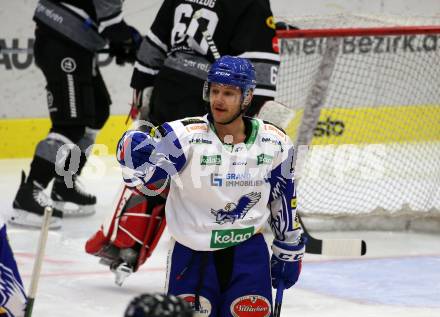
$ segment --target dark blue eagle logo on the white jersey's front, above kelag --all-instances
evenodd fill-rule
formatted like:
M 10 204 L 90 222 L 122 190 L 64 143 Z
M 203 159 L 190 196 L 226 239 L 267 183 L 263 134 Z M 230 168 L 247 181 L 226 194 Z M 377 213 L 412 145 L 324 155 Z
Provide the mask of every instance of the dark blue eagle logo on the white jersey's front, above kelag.
M 251 192 L 241 196 L 237 204 L 230 202 L 219 210 L 211 208 L 211 213 L 215 216 L 215 222 L 220 225 L 227 222 L 234 223 L 237 219 L 243 219 L 260 198 L 261 193 Z

